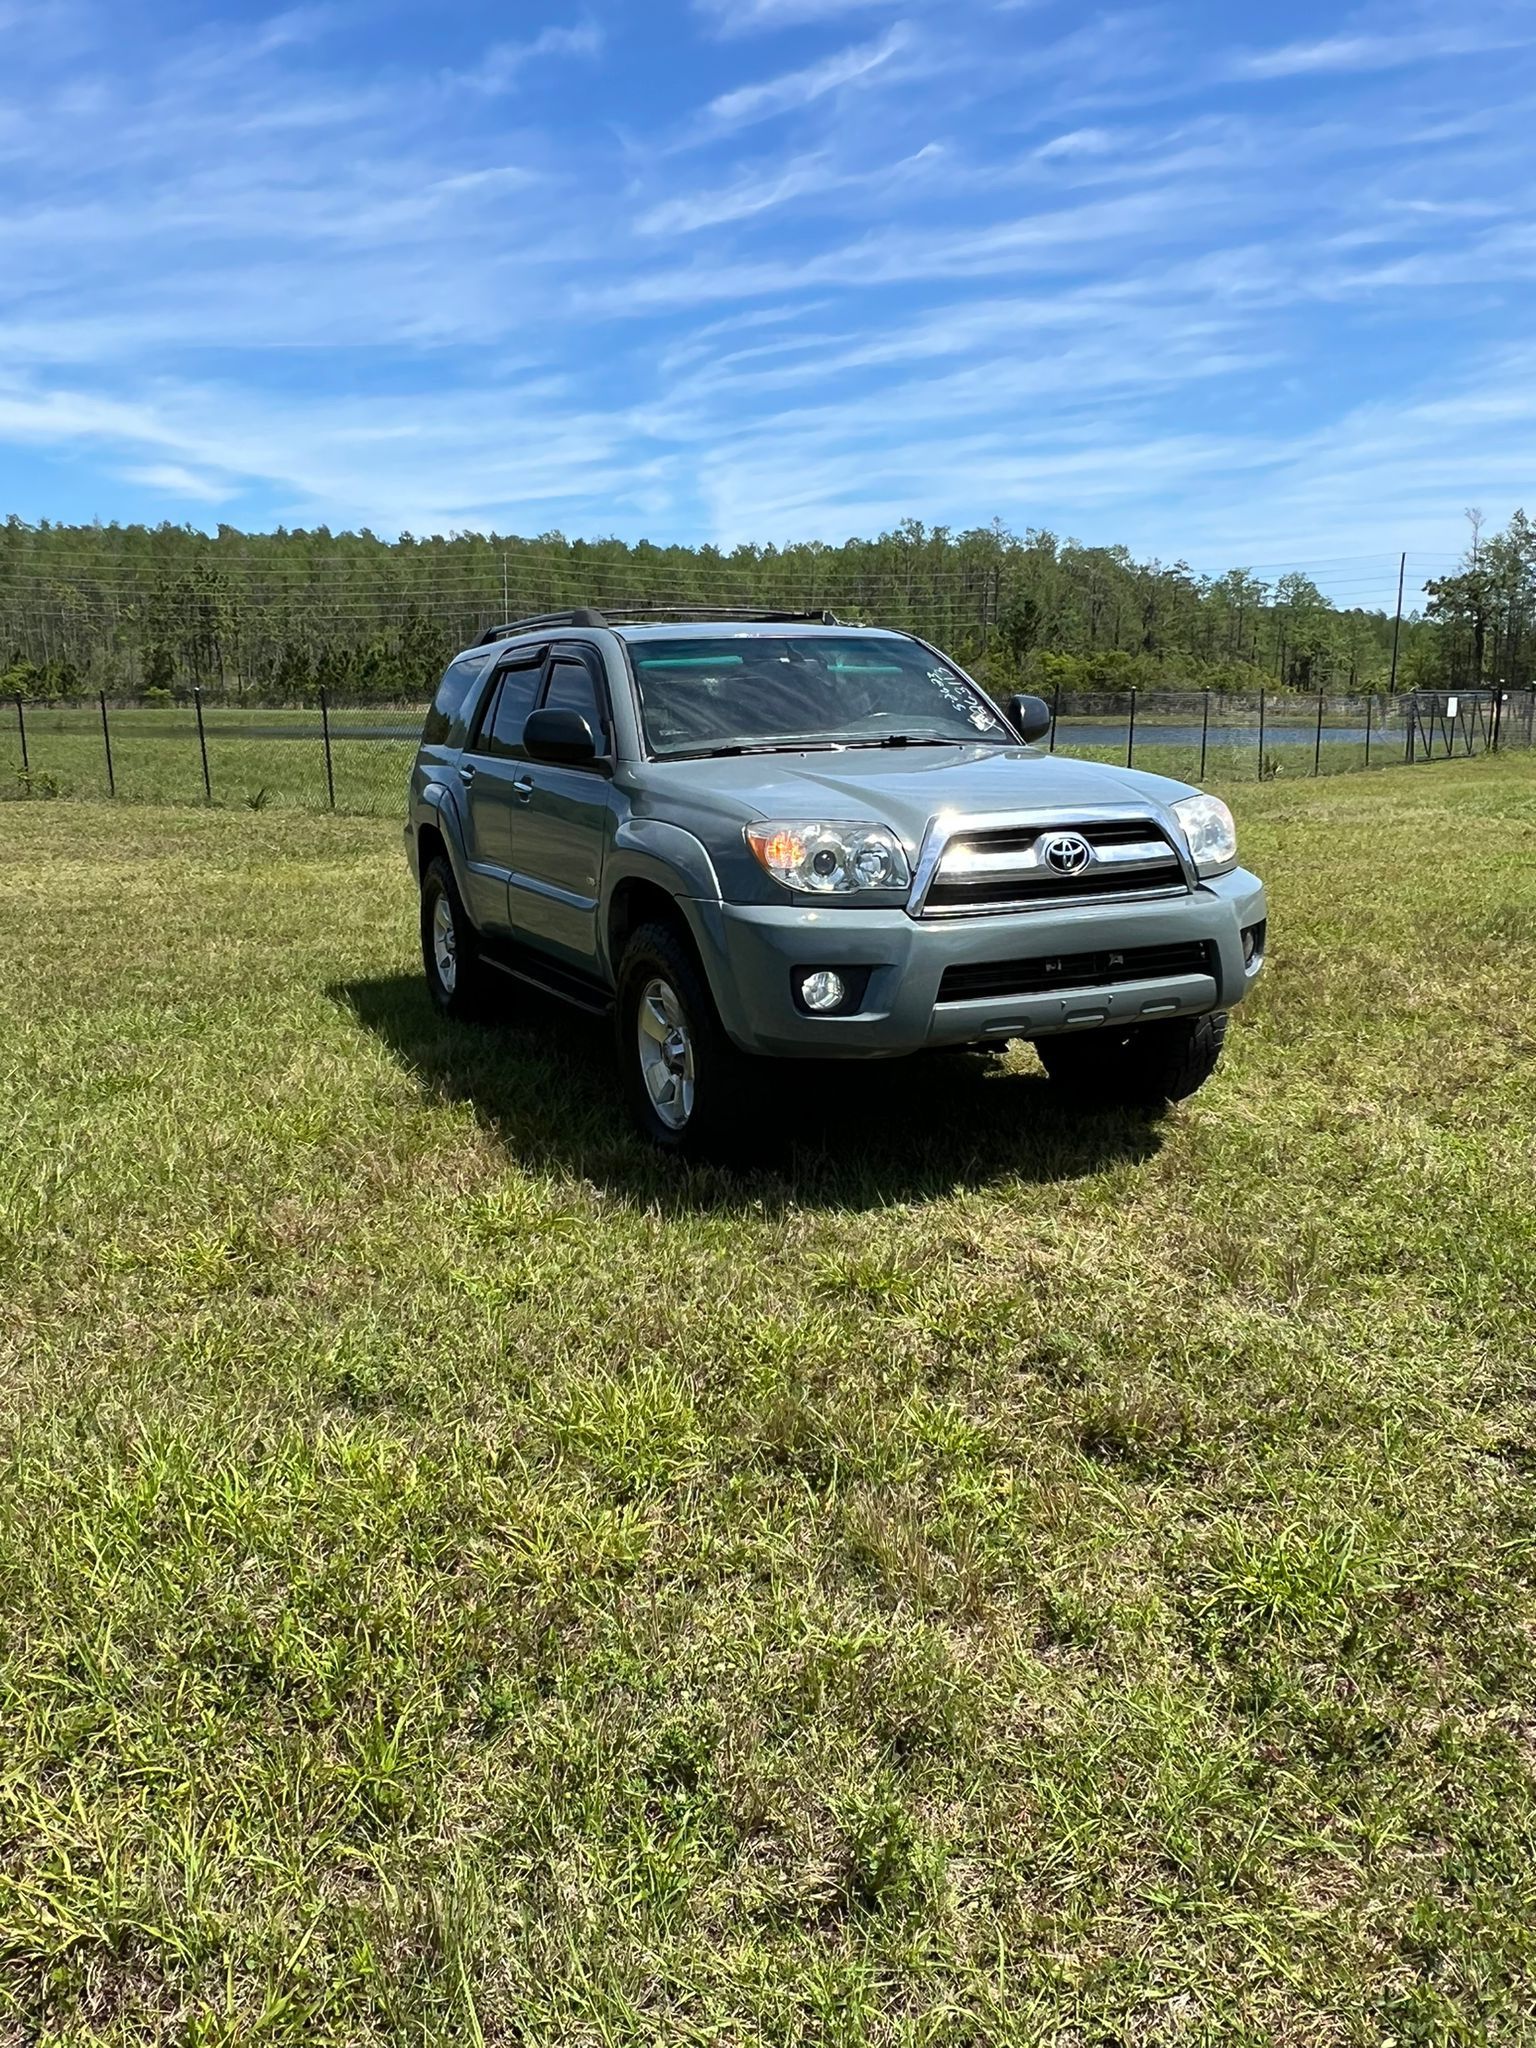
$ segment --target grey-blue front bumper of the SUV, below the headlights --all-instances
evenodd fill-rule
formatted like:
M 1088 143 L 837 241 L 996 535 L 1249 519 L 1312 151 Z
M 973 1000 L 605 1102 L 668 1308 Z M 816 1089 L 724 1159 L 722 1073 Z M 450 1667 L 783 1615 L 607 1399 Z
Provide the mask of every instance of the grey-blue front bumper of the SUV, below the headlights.
M 979 918 L 698 901 L 690 909 L 731 1040 L 743 1053 L 791 1059 L 879 1059 L 977 1038 L 1044 1038 L 1231 1010 L 1262 969 L 1262 961 L 1245 965 L 1241 934 L 1268 918 L 1264 885 L 1245 868 L 1178 897 Z M 1210 973 L 940 1001 L 950 967 L 1182 942 L 1208 948 Z M 862 1006 L 852 1016 L 807 1016 L 795 1001 L 793 977 L 813 967 L 868 967 Z

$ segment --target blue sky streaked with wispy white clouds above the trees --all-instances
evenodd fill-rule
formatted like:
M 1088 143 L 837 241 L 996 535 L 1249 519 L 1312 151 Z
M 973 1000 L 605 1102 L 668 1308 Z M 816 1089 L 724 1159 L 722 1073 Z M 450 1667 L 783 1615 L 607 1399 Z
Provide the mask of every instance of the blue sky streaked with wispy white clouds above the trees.
M 1536 6 L 0 0 L 0 512 L 1198 567 L 1536 504 Z

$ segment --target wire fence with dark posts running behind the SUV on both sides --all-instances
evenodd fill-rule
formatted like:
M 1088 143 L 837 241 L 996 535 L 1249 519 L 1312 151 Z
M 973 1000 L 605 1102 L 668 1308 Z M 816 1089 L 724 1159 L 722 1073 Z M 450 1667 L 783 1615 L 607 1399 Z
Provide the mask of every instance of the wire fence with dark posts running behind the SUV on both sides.
M 1053 754 L 1255 782 L 1536 745 L 1536 688 L 1368 696 L 1057 692 Z M 401 813 L 420 705 L 25 702 L 0 711 L 0 795 Z

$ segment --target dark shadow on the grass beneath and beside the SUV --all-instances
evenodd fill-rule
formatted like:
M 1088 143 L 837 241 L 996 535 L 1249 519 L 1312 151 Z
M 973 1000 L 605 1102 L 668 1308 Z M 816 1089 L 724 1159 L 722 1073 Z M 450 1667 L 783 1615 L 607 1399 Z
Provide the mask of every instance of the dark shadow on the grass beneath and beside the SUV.
M 731 1157 L 686 1167 L 631 1130 L 604 1022 L 516 989 L 514 1020 L 449 1024 L 420 975 L 342 981 L 328 995 L 428 1098 L 471 1104 L 522 1165 L 578 1174 L 664 1210 L 881 1208 L 1004 1180 L 1081 1180 L 1161 1147 L 1155 1116 L 1073 1108 L 1038 1073 L 928 1053 L 764 1061 Z

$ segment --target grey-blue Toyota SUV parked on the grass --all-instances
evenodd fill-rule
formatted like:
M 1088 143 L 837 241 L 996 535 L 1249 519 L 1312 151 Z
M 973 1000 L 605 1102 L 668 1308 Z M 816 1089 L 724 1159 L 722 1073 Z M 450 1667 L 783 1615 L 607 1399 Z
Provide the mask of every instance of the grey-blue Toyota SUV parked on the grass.
M 1264 965 L 1264 887 L 1217 797 L 1044 754 L 1049 729 L 829 614 L 498 627 L 412 772 L 432 1001 L 535 983 L 612 1012 L 676 1151 L 731 1135 L 764 1055 L 1030 1038 L 1077 1096 L 1188 1096 Z

